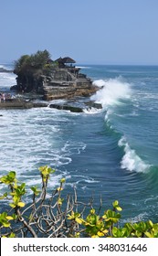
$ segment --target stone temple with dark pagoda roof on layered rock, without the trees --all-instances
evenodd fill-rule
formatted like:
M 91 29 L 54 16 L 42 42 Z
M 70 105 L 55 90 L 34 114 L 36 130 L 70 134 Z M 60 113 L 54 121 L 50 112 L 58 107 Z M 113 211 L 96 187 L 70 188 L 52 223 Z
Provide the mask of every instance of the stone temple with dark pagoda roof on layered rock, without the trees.
M 71 98 L 74 96 L 87 96 L 96 91 L 92 81 L 85 74 L 79 73 L 74 59 L 69 57 L 55 60 L 58 68 L 51 70 L 50 76 L 41 76 L 42 87 L 38 90 L 44 91 L 45 99 Z

